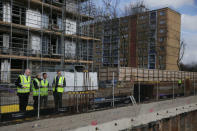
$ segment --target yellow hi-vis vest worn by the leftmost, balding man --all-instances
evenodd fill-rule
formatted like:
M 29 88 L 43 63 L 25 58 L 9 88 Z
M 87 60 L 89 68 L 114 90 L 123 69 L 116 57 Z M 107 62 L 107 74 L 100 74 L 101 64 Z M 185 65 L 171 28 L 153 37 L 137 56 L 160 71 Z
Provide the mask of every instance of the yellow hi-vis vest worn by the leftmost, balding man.
M 31 77 L 28 76 L 28 78 L 26 79 L 26 77 L 24 75 L 19 75 L 20 79 L 21 79 L 21 85 L 22 88 L 17 87 L 17 92 L 18 93 L 29 93 L 30 92 L 30 83 L 31 83 Z M 26 88 L 23 88 L 26 87 Z

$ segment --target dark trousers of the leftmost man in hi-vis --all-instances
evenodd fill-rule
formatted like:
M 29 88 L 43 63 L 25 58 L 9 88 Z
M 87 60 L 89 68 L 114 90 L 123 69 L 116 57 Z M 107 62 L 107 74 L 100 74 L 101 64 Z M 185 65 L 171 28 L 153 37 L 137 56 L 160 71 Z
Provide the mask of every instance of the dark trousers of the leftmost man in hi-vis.
M 17 95 L 19 97 L 19 110 L 24 112 L 28 105 L 29 93 L 18 93 Z

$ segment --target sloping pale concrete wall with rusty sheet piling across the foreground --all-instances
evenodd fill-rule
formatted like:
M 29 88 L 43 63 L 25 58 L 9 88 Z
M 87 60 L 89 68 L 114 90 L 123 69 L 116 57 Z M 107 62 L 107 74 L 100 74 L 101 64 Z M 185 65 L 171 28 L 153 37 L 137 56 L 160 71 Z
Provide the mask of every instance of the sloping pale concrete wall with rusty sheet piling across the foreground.
M 138 130 L 138 128 L 141 127 L 146 130 L 148 125 L 152 124 L 154 125 L 155 131 L 179 131 L 177 130 L 176 123 L 181 123 L 181 128 L 178 127 L 178 129 L 181 129 L 182 131 L 195 131 L 197 129 L 196 110 L 197 97 L 191 96 L 174 100 L 158 101 L 135 106 L 26 122 L 4 126 L 1 127 L 1 130 L 129 131 L 133 129 Z M 192 113 L 193 111 L 195 112 L 194 114 Z M 172 122 L 168 122 L 169 120 Z M 168 130 L 170 129 L 170 126 L 171 130 Z

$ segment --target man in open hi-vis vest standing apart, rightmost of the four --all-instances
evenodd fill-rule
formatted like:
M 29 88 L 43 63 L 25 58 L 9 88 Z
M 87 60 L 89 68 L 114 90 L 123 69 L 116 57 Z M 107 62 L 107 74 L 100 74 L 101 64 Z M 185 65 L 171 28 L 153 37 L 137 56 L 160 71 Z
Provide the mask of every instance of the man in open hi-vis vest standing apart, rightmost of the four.
M 66 86 L 65 77 L 61 75 L 60 71 L 57 71 L 57 76 L 54 77 L 52 86 L 55 111 L 58 111 L 62 107 L 62 94 L 64 92 L 64 87 Z

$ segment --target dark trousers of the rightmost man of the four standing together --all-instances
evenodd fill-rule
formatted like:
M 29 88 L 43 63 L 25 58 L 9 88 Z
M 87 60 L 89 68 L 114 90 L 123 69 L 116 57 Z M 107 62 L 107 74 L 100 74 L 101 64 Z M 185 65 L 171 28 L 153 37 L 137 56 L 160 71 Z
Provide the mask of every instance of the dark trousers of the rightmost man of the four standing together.
M 58 111 L 58 109 L 62 107 L 62 93 L 53 92 L 53 96 L 55 102 L 55 110 Z

